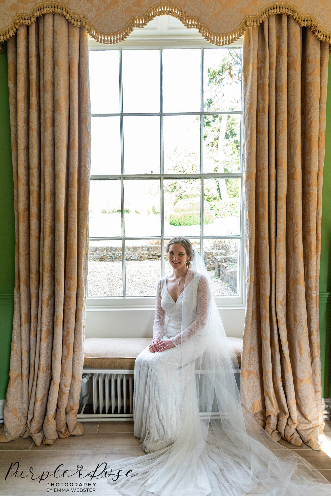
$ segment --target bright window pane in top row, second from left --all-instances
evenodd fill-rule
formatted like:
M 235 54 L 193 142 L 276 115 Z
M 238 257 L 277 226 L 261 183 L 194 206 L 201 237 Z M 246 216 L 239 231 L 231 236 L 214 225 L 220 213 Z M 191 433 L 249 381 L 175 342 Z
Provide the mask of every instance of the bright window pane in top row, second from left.
M 160 51 L 123 50 L 123 110 L 160 112 Z

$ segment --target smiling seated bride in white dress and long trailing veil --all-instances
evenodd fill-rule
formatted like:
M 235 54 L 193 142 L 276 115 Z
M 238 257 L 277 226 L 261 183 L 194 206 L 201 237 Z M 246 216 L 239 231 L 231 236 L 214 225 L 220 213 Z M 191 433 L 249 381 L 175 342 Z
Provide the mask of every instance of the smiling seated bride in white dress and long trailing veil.
M 166 251 L 173 274 L 157 284 L 153 339 L 134 364 L 133 434 L 147 454 L 112 462 L 108 482 L 126 496 L 331 495 L 239 393 L 238 362 L 197 250 L 178 236 Z

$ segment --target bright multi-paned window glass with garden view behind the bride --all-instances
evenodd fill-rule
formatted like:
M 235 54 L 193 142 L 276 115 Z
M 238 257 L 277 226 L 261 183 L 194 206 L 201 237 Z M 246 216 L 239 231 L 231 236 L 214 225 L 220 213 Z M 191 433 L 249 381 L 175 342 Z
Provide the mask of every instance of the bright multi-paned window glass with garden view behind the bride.
M 88 297 L 155 296 L 182 235 L 214 296 L 238 300 L 241 48 L 120 45 L 90 50 Z

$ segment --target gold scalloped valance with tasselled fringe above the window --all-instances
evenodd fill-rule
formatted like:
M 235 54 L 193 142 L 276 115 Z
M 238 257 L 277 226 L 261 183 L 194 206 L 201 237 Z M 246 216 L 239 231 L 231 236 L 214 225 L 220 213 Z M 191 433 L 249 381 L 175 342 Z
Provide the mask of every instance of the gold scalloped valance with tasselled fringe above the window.
M 251 26 L 273 14 L 293 17 L 326 43 L 331 43 L 331 1 L 294 0 L 67 0 L 37 2 L 0 0 L 0 41 L 7 40 L 22 24 L 31 24 L 48 12 L 59 13 L 71 24 L 82 26 L 100 43 L 118 43 L 135 27 L 143 27 L 158 15 L 177 17 L 188 28 L 197 28 L 213 45 L 229 45 Z

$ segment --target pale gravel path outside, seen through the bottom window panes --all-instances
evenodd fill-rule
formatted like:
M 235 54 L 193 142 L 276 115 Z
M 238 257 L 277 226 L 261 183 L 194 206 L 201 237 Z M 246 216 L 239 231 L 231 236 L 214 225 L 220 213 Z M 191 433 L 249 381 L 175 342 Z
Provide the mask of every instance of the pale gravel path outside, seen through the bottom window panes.
M 161 260 L 127 260 L 127 296 L 155 296 L 161 279 Z M 166 263 L 165 275 L 172 270 Z M 233 295 L 233 291 L 209 272 L 214 295 Z M 88 262 L 88 296 L 123 296 L 122 261 Z

